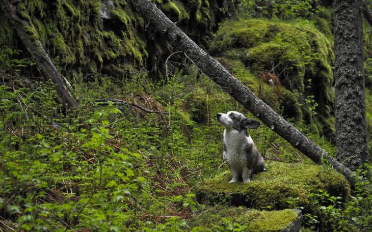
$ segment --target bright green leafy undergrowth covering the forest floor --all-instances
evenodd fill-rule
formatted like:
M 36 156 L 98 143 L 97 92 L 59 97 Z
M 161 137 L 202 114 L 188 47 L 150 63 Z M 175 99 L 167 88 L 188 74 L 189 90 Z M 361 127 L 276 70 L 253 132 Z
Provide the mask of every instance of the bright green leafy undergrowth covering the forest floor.
M 0 228 L 192 229 L 188 219 L 203 206 L 191 188 L 228 169 L 222 165 L 223 128 L 216 113 L 234 109 L 252 117 L 209 80 L 195 81 L 195 76 L 178 73 L 167 84 L 149 83 L 140 74 L 125 81 L 76 81 L 77 111 L 56 103 L 50 81 L 33 83 L 33 89 L 2 85 Z M 100 98 L 169 114 L 95 103 Z M 311 162 L 265 126 L 251 135 L 267 160 Z M 327 141 L 312 137 L 334 151 Z M 317 206 L 332 206 L 323 197 Z M 353 202 L 359 206 L 360 199 Z M 320 219 L 311 220 L 309 225 L 316 226 Z

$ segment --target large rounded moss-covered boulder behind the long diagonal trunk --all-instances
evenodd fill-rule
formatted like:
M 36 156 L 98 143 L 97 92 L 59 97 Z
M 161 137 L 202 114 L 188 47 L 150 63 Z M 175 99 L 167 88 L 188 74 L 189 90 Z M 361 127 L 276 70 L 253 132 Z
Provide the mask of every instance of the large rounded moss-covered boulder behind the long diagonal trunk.
M 277 107 L 286 118 L 314 124 L 320 134 L 334 134 L 334 54 L 327 37 L 308 21 L 283 22 L 236 17 L 222 23 L 210 51 L 243 62 L 256 79 L 262 72 L 275 74 L 289 92 Z M 267 83 L 269 85 L 269 83 Z M 274 93 L 274 91 L 272 91 Z M 291 102 L 285 102 L 285 99 Z M 293 108 L 298 99 L 301 111 Z M 266 101 L 270 104 L 270 101 Z

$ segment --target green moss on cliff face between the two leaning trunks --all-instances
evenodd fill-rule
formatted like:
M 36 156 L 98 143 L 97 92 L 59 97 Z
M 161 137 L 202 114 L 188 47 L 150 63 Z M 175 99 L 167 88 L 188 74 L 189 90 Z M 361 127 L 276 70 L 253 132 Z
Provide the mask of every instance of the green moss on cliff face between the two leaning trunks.
M 142 17 L 126 1 L 114 1 L 114 5 L 110 30 L 100 18 L 99 0 L 56 0 L 50 4 L 26 0 L 18 5 L 18 14 L 29 21 L 30 35 L 41 41 L 67 77 L 72 72 L 98 72 L 112 64 L 120 67 L 105 72 L 122 77 L 133 67 L 143 67 L 148 53 L 137 32 L 144 27 Z

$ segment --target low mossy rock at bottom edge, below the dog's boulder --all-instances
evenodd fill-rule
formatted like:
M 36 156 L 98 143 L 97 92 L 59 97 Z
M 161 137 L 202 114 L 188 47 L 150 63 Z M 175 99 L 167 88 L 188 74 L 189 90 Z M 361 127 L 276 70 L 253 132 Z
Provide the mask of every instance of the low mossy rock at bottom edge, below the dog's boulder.
M 257 211 L 243 207 L 210 207 L 190 219 L 192 231 L 299 231 L 300 210 Z M 236 229 L 236 230 L 234 230 Z M 240 229 L 240 230 L 239 230 Z

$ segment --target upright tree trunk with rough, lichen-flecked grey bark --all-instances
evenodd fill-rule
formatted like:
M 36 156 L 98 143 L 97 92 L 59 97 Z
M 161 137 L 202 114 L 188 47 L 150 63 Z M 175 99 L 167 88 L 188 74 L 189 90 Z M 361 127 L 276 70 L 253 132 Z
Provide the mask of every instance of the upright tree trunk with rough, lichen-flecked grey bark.
M 352 170 L 367 160 L 362 12 L 354 0 L 334 2 L 337 159 Z

